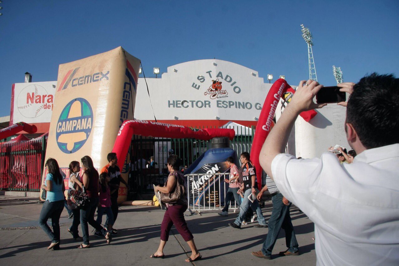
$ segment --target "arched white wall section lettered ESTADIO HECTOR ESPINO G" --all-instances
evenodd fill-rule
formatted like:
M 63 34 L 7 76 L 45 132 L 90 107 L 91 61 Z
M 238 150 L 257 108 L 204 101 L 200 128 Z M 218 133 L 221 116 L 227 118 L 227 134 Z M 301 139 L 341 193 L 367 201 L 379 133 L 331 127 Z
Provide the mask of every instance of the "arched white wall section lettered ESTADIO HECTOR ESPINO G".
M 257 71 L 217 59 L 173 65 L 161 78 L 146 80 L 157 120 L 174 124 L 197 121 L 208 126 L 228 121 L 256 125 L 271 87 Z M 221 82 L 217 94 L 208 91 L 213 81 Z M 138 80 L 137 99 L 134 118 L 154 120 L 144 78 Z

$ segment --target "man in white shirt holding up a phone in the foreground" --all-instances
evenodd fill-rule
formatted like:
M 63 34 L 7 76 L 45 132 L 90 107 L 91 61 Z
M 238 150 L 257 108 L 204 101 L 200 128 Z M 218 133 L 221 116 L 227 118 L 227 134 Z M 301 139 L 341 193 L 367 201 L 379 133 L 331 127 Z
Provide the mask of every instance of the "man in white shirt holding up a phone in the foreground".
M 281 193 L 314 222 L 318 265 L 399 264 L 399 79 L 371 74 L 338 85 L 351 93 L 345 131 L 358 156 L 297 160 L 283 154 L 298 114 L 321 108 L 322 88 L 301 81 L 267 137 L 260 163 Z

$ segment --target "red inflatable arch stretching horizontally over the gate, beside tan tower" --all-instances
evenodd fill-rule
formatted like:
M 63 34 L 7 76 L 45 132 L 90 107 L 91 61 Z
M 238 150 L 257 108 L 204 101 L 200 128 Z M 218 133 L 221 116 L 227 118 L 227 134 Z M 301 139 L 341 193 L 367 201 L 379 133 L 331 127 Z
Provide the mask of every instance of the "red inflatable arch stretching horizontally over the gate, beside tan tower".
M 164 138 L 196 138 L 198 140 L 210 140 L 215 137 L 228 137 L 233 140 L 235 132 L 227 128 L 190 128 L 162 122 L 146 120 L 126 120 L 120 126 L 117 139 L 112 152 L 118 157 L 118 166 L 122 169 L 130 146 L 132 136 L 152 136 Z

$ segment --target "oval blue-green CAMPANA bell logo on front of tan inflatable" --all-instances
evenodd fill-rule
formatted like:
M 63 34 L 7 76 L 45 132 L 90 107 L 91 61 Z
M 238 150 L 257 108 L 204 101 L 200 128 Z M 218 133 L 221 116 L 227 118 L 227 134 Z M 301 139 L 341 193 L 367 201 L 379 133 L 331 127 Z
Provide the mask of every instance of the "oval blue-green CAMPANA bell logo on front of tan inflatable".
M 76 98 L 68 102 L 57 122 L 59 149 L 67 154 L 78 151 L 89 138 L 92 125 L 93 110 L 87 100 Z

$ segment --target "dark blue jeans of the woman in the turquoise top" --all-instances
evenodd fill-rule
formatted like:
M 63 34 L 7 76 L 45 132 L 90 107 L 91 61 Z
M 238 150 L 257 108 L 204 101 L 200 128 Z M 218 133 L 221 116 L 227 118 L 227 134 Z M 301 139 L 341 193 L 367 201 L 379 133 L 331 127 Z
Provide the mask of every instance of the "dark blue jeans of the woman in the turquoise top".
M 59 217 L 61 216 L 62 210 L 64 209 L 64 200 L 61 201 L 45 201 L 39 216 L 39 225 L 41 229 L 49 236 L 52 243 L 59 242 Z M 51 231 L 47 225 L 47 220 L 51 218 Z

